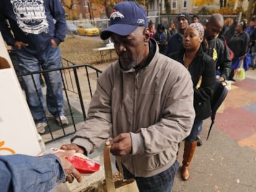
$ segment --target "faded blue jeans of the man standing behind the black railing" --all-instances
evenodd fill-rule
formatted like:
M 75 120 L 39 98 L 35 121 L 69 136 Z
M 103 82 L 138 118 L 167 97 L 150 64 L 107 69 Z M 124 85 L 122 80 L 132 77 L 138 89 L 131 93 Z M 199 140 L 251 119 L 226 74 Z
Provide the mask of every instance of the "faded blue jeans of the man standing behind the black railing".
M 17 50 L 20 73 L 36 72 L 41 69 L 55 69 L 61 67 L 61 51 L 58 47 L 49 46 L 45 52 L 38 55 L 29 54 L 23 48 Z M 41 69 L 40 69 L 41 67 Z M 62 95 L 62 77 L 59 70 L 43 74 L 47 85 L 46 101 L 49 112 L 57 118 L 64 114 L 64 100 Z M 32 78 L 33 76 L 33 78 Z M 40 84 L 40 74 L 22 77 L 28 106 L 35 123 L 46 122 L 46 104 Z M 34 83 L 34 81 L 35 83 Z

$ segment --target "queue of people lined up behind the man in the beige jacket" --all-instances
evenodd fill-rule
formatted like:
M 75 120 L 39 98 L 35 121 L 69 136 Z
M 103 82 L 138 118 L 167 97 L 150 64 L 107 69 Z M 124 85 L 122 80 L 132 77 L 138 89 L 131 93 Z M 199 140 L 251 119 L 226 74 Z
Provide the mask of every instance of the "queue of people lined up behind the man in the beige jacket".
M 153 22 L 150 21 L 150 25 Z M 158 24 L 156 42 L 160 52 L 183 64 L 189 70 L 194 85 L 195 121 L 190 135 L 185 139 L 182 161 L 182 178 L 190 177 L 189 166 L 196 146 L 201 146 L 200 133 L 203 120 L 210 117 L 210 99 L 216 81 L 235 81 L 231 66 L 245 54 L 252 54 L 252 69 L 255 69 L 256 25 L 255 17 L 247 28 L 246 20 L 223 19 L 221 14 L 213 14 L 200 23 L 198 15 L 181 13 L 177 16 L 177 29 L 172 21 L 168 29 Z M 171 33 L 175 28 L 175 32 Z M 154 33 L 154 31 L 151 31 Z M 168 38 L 167 38 L 168 36 Z M 164 46 L 163 46 L 164 44 Z M 226 85 L 226 84 L 225 84 Z

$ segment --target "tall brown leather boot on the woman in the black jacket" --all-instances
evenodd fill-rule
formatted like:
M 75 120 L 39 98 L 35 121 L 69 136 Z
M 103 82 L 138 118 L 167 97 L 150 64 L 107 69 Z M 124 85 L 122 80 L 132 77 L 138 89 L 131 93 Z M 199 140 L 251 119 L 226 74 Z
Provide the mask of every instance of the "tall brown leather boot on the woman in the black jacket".
M 197 147 L 197 141 L 194 141 L 192 143 L 185 141 L 182 170 L 181 170 L 181 177 L 184 181 L 189 179 L 189 166 L 190 166 L 190 162 L 192 161 L 196 147 Z

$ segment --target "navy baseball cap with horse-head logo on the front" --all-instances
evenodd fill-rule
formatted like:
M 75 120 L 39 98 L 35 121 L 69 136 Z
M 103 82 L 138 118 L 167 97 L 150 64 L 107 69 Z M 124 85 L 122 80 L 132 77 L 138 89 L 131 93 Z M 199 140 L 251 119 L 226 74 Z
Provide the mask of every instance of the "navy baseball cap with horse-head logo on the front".
M 107 40 L 111 33 L 127 36 L 137 27 L 148 27 L 145 10 L 133 1 L 119 2 L 110 14 L 110 26 L 101 32 L 100 38 Z

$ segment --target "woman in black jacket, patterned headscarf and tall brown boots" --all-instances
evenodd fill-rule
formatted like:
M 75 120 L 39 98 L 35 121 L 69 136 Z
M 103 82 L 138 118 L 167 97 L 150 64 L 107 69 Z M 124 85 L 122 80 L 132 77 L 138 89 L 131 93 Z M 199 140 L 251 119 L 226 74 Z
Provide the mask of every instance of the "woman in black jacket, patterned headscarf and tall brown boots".
M 189 179 L 189 165 L 197 146 L 198 127 L 211 115 L 210 98 L 216 83 L 215 62 L 202 49 L 204 29 L 200 23 L 192 23 L 186 29 L 183 46 L 169 57 L 181 62 L 191 75 L 194 85 L 195 121 L 190 135 L 185 139 L 182 162 L 182 179 Z

